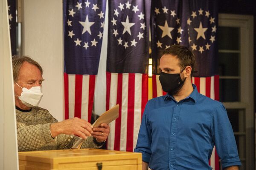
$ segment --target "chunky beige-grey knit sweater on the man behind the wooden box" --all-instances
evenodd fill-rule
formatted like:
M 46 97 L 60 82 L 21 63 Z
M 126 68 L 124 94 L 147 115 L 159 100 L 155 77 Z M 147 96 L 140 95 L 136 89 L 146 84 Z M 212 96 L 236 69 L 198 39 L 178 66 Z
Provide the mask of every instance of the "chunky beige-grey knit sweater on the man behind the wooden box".
M 52 139 L 49 131 L 51 123 L 58 122 L 48 110 L 33 107 L 29 112 L 16 109 L 17 138 L 19 151 L 70 149 L 79 139 L 75 135 L 60 134 Z M 100 148 L 93 137 L 87 138 L 81 148 Z

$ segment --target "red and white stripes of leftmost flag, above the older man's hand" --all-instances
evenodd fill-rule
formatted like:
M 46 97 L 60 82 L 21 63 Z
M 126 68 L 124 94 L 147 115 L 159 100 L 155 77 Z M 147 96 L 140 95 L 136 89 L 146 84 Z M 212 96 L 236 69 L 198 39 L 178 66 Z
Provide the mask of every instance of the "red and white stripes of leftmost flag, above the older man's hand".
M 65 119 L 91 120 L 96 75 L 64 73 Z

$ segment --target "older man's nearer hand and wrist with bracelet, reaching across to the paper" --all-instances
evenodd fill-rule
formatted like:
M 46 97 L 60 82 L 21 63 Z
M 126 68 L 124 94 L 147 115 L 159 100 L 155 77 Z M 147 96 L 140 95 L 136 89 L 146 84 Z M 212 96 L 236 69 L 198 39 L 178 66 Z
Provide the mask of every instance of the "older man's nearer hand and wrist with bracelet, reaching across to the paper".
M 58 123 L 51 124 L 52 137 L 59 134 L 77 135 L 86 139 L 93 133 L 93 126 L 80 118 L 67 119 Z

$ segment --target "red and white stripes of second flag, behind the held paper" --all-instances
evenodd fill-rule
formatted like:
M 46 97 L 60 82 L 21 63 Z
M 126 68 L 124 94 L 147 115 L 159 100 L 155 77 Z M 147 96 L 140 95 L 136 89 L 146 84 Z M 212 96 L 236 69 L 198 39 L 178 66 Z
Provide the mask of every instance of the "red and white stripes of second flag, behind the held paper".
M 106 110 L 119 104 L 119 118 L 111 122 L 108 150 L 133 151 L 148 101 L 148 75 L 106 72 Z

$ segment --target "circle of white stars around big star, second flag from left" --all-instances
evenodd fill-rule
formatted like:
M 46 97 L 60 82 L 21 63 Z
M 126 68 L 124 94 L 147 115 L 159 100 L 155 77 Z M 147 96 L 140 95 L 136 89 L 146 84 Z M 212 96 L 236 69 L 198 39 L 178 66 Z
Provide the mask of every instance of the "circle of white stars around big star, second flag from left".
M 144 42 L 146 24 L 142 4 L 128 0 L 114 2 L 110 8 L 110 36 L 122 50 L 131 51 Z

